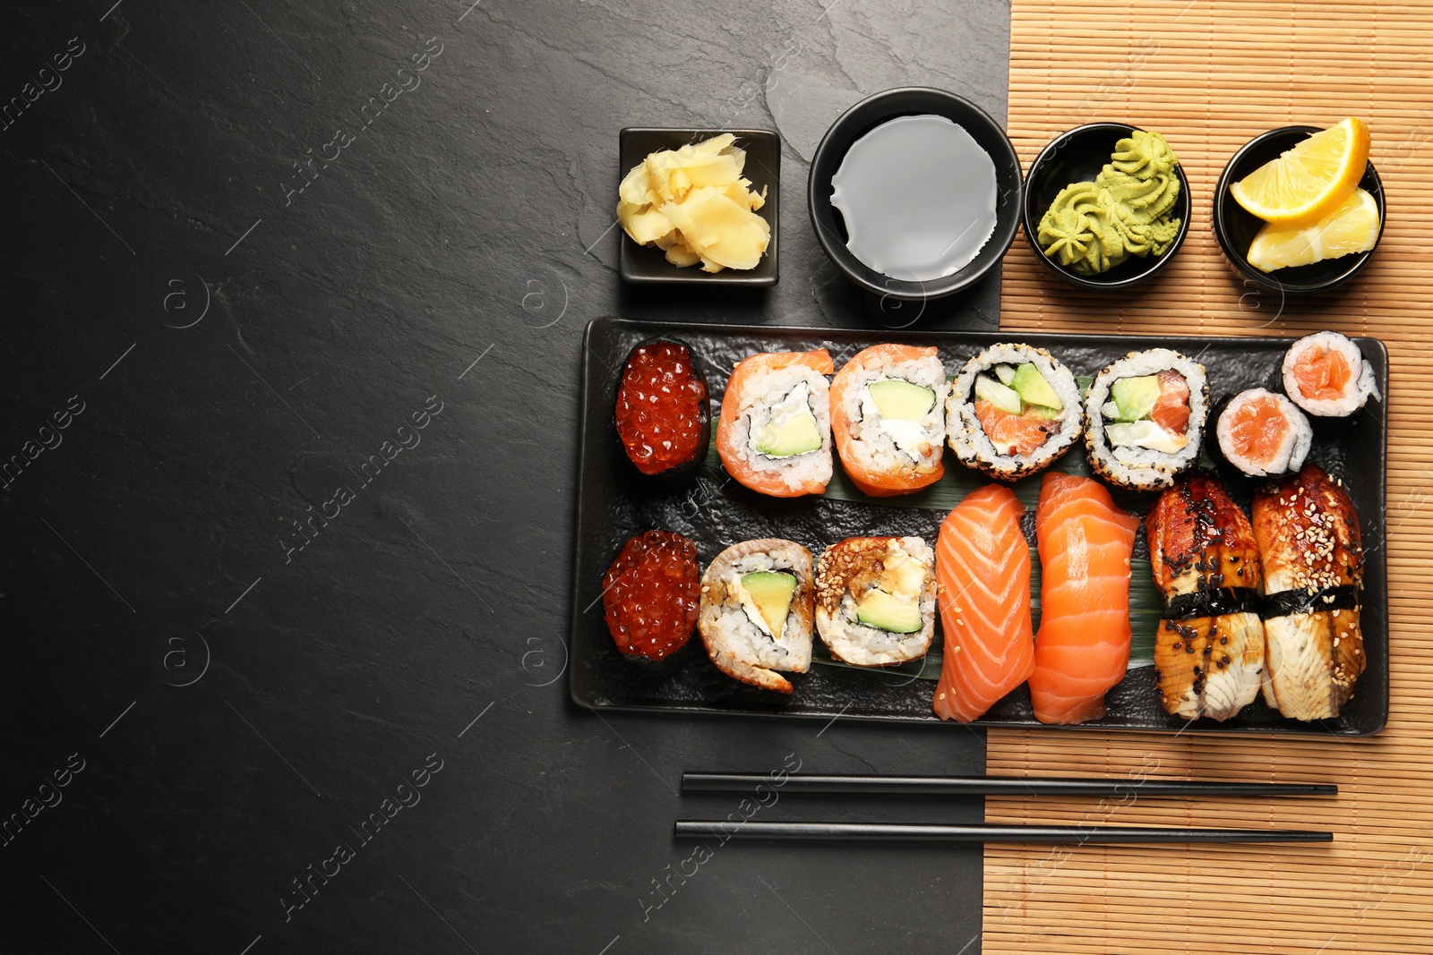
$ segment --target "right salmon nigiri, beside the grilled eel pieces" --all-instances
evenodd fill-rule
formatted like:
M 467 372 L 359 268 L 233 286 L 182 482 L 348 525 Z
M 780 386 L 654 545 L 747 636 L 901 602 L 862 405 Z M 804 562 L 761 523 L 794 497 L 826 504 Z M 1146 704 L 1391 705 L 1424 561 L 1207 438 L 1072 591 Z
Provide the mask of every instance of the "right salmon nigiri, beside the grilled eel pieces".
M 1105 714 L 1105 692 L 1129 663 L 1129 554 L 1139 518 L 1099 481 L 1050 472 L 1040 483 L 1040 631 L 1030 700 L 1042 723 Z

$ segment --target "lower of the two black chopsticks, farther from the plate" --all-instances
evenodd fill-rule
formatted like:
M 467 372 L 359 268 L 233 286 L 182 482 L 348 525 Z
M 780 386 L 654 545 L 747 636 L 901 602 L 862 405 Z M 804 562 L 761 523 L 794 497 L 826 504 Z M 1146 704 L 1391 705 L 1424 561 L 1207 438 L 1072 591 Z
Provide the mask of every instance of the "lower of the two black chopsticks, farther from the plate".
M 1131 826 L 910 825 L 884 822 L 744 822 L 678 819 L 678 839 L 800 839 L 825 842 L 1023 842 L 1111 845 L 1151 842 L 1333 842 L 1305 829 L 1161 829 Z

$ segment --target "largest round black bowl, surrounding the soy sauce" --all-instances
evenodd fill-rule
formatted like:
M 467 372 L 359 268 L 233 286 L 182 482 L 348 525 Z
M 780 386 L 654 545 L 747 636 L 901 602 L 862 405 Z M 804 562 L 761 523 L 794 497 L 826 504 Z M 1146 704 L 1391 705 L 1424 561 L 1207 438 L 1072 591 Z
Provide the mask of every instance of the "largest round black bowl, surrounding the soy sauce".
M 857 259 L 845 248 L 848 239 L 845 223 L 840 210 L 831 205 L 831 180 L 851 143 L 898 116 L 944 116 L 970 133 L 995 163 L 997 190 L 995 232 L 974 259 L 939 279 L 924 282 L 897 279 Z M 900 175 L 900 170 L 891 172 Z M 831 129 L 825 132 L 811 157 L 807 209 L 821 249 L 845 278 L 881 299 L 924 302 L 954 295 L 983 279 L 999 265 L 1020 226 L 1020 159 L 1015 155 L 1015 146 L 1010 145 L 1010 137 L 1005 135 L 1000 123 L 963 96 L 924 86 L 907 86 L 868 96 L 831 123 Z

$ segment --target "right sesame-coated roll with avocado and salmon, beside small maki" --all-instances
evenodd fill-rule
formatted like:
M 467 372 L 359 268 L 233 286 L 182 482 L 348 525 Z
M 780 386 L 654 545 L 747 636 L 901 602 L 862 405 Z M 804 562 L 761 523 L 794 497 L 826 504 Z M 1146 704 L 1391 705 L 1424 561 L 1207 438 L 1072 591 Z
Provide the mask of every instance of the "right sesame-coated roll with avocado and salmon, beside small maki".
M 1085 395 L 1089 464 L 1119 487 L 1172 487 L 1199 460 L 1208 411 L 1204 365 L 1168 348 L 1129 352 Z

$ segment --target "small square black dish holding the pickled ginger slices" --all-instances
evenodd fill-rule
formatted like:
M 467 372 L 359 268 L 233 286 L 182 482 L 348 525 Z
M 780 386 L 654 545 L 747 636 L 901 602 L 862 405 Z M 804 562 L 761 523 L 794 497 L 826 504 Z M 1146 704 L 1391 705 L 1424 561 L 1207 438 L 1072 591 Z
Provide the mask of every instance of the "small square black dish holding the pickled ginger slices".
M 742 173 L 757 192 L 767 190 L 767 203 L 757 215 L 771 226 L 771 242 L 754 269 L 722 269 L 702 272 L 699 265 L 678 268 L 666 261 L 666 253 L 655 245 L 642 246 L 622 232 L 622 249 L 618 256 L 618 273 L 623 282 L 669 283 L 669 285 L 735 285 L 759 288 L 777 283 L 777 209 L 781 199 L 781 136 L 770 129 L 646 129 L 629 126 L 618 136 L 620 169 L 618 182 L 632 170 L 648 153 L 661 149 L 678 149 L 688 143 L 699 143 L 712 136 L 732 133 L 737 146 L 747 150 L 747 166 Z M 616 208 L 616 190 L 612 192 Z

